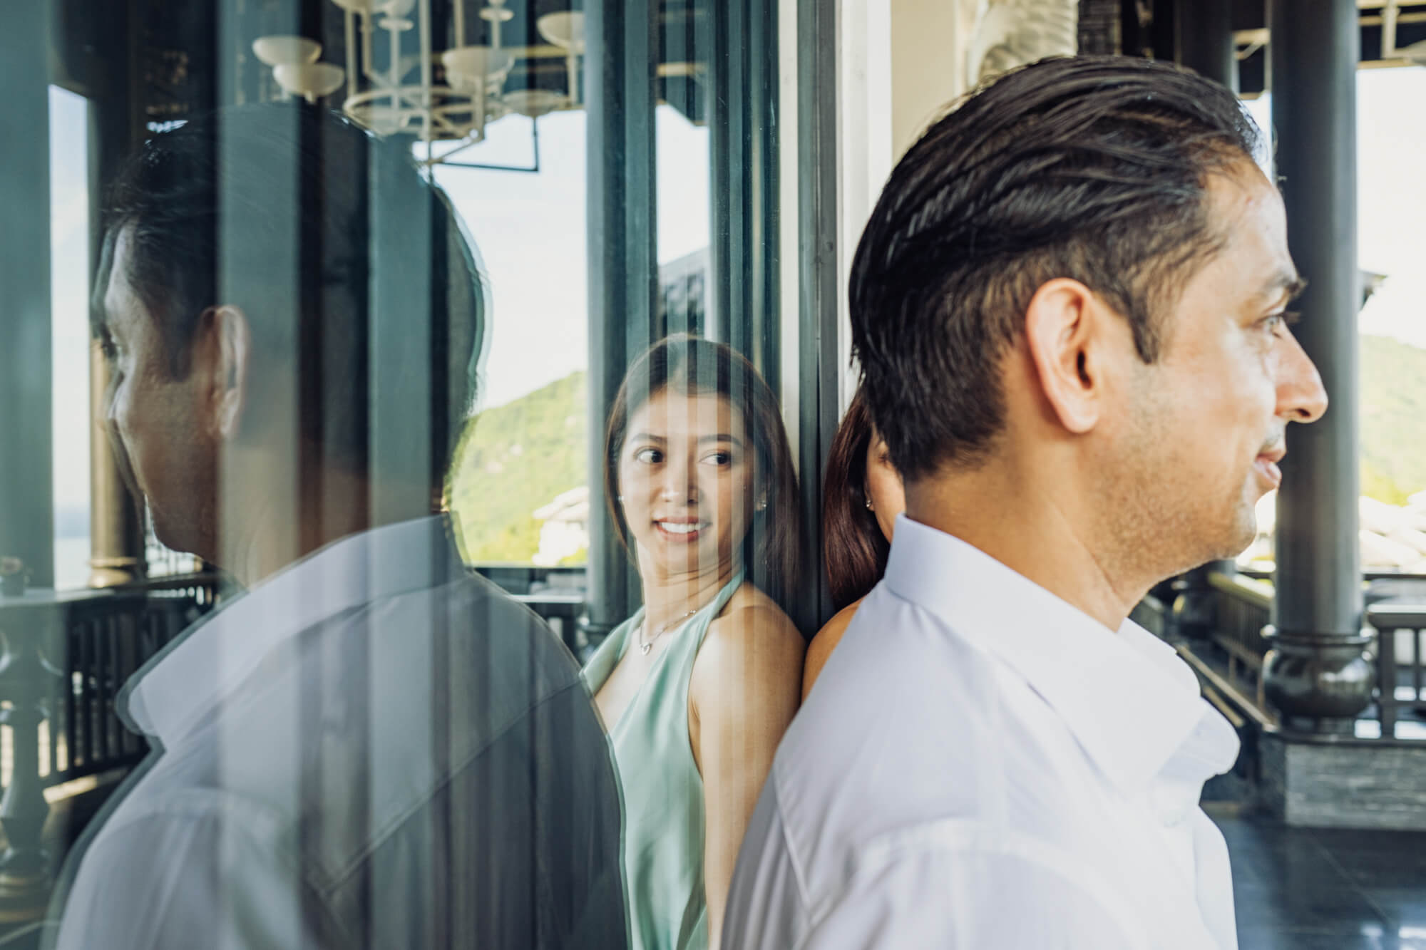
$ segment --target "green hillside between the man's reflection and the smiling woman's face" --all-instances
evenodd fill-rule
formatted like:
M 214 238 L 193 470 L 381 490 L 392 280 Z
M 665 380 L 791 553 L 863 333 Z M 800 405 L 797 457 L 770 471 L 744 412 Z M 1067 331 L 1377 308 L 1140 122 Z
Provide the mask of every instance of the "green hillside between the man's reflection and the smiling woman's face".
M 471 421 L 456 449 L 451 506 L 466 561 L 529 561 L 539 549 L 530 514 L 585 484 L 585 374 Z

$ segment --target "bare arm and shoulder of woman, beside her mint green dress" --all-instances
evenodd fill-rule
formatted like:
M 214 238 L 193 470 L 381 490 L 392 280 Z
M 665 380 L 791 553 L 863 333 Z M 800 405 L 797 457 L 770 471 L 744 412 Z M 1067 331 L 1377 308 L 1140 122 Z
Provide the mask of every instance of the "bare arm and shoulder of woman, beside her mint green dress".
M 743 832 L 797 713 L 803 645 L 776 606 L 746 606 L 709 628 L 693 663 L 689 735 L 703 776 L 703 886 L 714 949 Z

